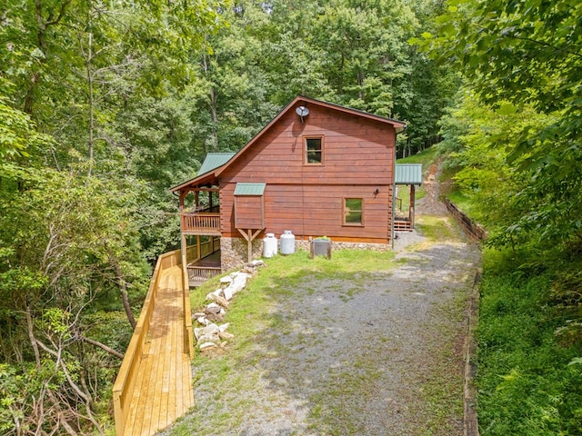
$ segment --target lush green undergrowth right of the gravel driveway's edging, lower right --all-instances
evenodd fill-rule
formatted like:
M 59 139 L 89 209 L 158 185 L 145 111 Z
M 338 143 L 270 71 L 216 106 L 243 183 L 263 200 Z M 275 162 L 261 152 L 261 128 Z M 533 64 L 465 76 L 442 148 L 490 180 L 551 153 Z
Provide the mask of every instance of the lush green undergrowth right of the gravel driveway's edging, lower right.
M 486 252 L 478 326 L 481 434 L 582 434 L 582 365 L 568 365 L 582 347 L 557 342 L 567 317 L 548 303 L 554 274 L 528 275 L 507 259 Z

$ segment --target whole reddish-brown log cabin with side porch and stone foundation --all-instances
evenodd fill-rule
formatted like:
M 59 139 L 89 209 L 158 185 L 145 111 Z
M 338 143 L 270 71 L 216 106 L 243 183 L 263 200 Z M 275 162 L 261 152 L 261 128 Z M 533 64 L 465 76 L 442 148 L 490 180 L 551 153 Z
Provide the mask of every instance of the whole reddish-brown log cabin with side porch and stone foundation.
M 260 256 L 266 233 L 291 231 L 305 248 L 325 235 L 334 247 L 390 249 L 396 134 L 405 129 L 297 96 L 236 154 L 208 154 L 195 178 L 171 188 L 190 284 Z M 398 225 L 412 228 L 413 215 Z

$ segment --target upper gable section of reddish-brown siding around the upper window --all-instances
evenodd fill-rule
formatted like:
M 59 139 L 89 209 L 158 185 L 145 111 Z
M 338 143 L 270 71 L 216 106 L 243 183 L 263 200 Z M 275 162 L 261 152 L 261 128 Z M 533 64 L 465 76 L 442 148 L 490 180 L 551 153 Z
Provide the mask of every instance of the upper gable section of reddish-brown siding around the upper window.
M 304 164 L 304 138 L 323 135 L 325 162 Z M 391 184 L 392 126 L 314 107 L 305 123 L 289 111 L 221 174 L 231 182 L 286 184 Z

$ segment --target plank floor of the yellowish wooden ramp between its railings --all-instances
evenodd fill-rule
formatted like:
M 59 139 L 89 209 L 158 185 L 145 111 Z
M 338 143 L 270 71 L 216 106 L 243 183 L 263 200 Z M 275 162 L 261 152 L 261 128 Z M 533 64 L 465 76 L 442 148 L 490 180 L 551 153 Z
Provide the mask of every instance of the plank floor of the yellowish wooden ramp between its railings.
M 194 405 L 181 274 L 180 266 L 160 271 L 124 436 L 155 434 Z

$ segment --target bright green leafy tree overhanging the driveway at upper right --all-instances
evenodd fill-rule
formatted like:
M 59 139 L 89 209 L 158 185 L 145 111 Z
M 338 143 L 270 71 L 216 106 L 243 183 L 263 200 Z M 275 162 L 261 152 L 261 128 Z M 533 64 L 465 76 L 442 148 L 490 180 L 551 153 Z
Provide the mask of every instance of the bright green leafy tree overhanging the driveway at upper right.
M 486 104 L 545 115 L 545 123 L 523 126 L 507 156 L 528 178 L 520 192 L 527 210 L 507 232 L 541 243 L 582 244 L 581 8 L 570 0 L 454 2 L 438 18 L 437 36 L 420 43 L 454 63 Z

